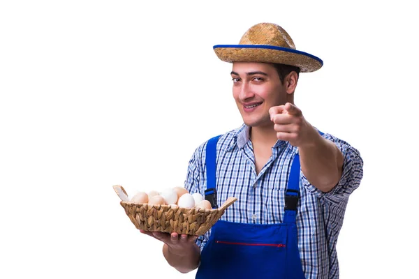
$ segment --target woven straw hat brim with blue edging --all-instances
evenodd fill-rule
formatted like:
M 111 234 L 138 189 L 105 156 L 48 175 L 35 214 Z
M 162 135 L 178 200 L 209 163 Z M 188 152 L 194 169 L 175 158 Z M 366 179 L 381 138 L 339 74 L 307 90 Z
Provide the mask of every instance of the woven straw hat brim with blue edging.
M 226 62 L 280 63 L 300 68 L 300 73 L 320 69 L 323 61 L 307 52 L 272 45 L 214 45 L 216 56 Z

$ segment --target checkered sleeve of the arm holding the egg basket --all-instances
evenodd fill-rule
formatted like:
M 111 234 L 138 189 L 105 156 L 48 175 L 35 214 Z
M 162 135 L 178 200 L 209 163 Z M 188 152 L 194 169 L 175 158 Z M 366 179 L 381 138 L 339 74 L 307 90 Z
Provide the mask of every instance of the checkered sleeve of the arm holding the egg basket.
M 194 153 L 191 160 L 189 160 L 188 174 L 185 180 L 185 188 L 191 194 L 200 193 L 200 167 L 197 165 L 197 154 L 198 150 Z M 200 194 L 203 195 L 203 193 Z M 198 239 L 196 239 L 195 243 L 200 247 L 201 252 L 207 243 L 209 236 L 210 232 L 206 232 L 205 234 L 199 236 Z

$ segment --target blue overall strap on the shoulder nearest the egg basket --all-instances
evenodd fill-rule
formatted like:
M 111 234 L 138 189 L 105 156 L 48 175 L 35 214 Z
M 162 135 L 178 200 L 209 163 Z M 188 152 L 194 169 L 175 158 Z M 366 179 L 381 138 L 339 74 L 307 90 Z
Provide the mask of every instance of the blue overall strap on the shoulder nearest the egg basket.
M 207 190 L 205 190 L 205 199 L 211 202 L 212 208 L 218 208 L 216 203 L 216 143 L 221 135 L 212 137 L 207 142 L 205 153 L 205 164 L 207 165 Z

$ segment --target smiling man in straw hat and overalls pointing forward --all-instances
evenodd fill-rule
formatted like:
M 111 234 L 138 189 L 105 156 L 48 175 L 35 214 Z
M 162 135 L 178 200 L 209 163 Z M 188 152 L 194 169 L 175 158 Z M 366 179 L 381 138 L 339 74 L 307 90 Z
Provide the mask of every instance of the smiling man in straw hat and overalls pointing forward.
M 267 23 L 214 51 L 233 64 L 244 123 L 196 149 L 185 188 L 202 195 L 214 188 L 216 202 L 237 202 L 198 239 L 144 233 L 164 242 L 178 271 L 198 268 L 196 278 L 339 278 L 337 236 L 363 161 L 347 142 L 311 126 L 293 98 L 300 73 L 323 61 Z

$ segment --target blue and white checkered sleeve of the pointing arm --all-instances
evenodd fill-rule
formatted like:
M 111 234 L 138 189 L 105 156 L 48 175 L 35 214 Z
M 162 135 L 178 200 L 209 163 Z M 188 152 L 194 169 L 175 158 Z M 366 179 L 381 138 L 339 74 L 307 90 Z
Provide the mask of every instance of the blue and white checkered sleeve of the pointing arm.
M 302 174 L 303 185 L 314 195 L 323 197 L 325 200 L 330 202 L 341 202 L 342 199 L 346 199 L 353 193 L 353 191 L 360 186 L 360 182 L 363 176 L 363 160 L 360 156 L 360 152 L 349 145 L 343 140 L 339 140 L 337 137 L 333 137 L 330 134 L 325 134 L 323 137 L 327 140 L 334 142 L 341 153 L 344 155 L 344 165 L 342 170 L 341 179 L 328 193 L 323 193 L 318 188 L 314 187 L 309 183 L 307 178 Z

